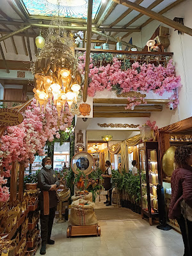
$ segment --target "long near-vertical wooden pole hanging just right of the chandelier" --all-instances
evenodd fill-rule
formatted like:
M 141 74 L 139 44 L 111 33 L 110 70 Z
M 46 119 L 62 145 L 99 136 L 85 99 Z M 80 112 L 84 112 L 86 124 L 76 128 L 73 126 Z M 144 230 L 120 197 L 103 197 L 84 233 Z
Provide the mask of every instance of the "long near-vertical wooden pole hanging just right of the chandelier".
M 86 26 L 86 59 L 84 67 L 83 101 L 86 102 L 90 74 L 90 50 L 92 40 L 92 8 L 93 0 L 88 1 L 87 26 Z

